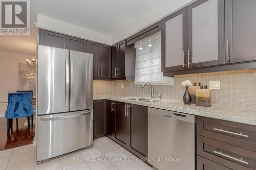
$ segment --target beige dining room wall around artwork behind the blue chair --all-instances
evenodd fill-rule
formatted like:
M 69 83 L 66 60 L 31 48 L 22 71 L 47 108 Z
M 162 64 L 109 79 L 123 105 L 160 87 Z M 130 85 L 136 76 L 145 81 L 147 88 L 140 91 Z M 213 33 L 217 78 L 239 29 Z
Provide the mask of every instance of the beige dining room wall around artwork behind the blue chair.
M 18 64 L 35 56 L 0 52 L 0 103 L 8 102 L 8 92 L 18 90 Z M 1 110 L 1 109 L 0 109 Z

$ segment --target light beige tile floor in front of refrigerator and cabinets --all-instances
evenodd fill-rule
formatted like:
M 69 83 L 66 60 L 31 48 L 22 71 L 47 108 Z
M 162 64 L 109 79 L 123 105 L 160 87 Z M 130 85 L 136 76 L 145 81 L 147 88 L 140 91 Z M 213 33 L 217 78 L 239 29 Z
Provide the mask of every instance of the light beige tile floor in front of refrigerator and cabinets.
M 32 144 L 0 151 L 0 170 L 10 169 L 84 169 L 84 170 L 150 170 L 152 167 L 136 159 L 108 137 L 94 140 L 93 148 L 84 149 L 36 165 L 36 148 Z M 79 160 L 78 160 L 79 159 Z M 93 161 L 92 161 L 93 160 Z

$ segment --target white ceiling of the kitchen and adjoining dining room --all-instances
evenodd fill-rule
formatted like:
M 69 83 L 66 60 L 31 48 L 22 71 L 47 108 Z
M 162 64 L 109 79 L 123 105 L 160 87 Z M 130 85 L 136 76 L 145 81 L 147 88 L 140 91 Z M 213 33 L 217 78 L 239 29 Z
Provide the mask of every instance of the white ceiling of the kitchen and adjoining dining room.
M 0 51 L 36 55 L 37 13 L 112 36 L 165 0 L 33 0 L 30 36 L 0 36 Z

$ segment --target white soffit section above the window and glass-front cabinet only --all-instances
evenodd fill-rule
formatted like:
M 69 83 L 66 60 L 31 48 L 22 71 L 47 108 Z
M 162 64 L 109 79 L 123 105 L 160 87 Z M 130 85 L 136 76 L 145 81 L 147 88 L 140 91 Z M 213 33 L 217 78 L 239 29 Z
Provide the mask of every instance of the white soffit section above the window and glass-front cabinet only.
M 166 0 L 162 2 L 155 8 L 139 16 L 135 21 L 133 21 L 132 23 L 130 23 L 120 31 L 113 34 L 112 44 L 115 44 L 116 42 L 122 39 L 130 37 L 131 35 L 143 30 L 147 26 L 152 25 L 152 23 L 155 23 L 161 20 L 163 17 L 181 8 L 187 3 L 194 2 L 194 1 L 195 0 L 193 1 L 192 0 L 179 0 L 179 1 Z M 130 12 L 132 12 L 132 10 Z

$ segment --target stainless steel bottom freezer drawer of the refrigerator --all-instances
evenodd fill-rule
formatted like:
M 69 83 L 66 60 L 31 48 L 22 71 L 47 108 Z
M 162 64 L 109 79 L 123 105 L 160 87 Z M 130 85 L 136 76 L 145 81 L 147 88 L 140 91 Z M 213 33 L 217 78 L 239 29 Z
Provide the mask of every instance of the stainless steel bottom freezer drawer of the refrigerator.
M 37 117 L 37 162 L 93 144 L 93 110 Z

